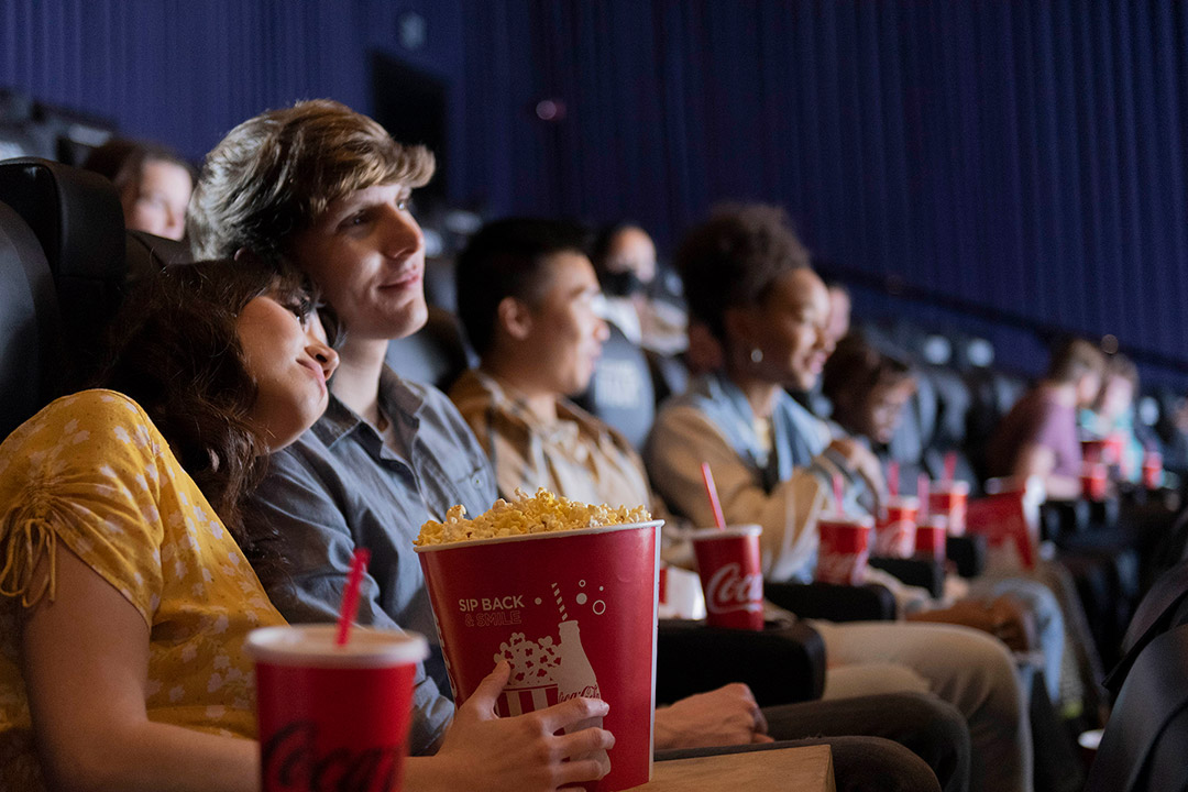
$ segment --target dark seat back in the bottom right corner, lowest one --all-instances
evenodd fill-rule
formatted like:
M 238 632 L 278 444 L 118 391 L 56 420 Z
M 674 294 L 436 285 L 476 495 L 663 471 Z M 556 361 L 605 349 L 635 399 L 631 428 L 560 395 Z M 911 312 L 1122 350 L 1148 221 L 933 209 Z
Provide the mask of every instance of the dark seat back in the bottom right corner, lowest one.
M 1188 788 L 1188 626 L 1151 641 L 1126 677 L 1086 792 Z

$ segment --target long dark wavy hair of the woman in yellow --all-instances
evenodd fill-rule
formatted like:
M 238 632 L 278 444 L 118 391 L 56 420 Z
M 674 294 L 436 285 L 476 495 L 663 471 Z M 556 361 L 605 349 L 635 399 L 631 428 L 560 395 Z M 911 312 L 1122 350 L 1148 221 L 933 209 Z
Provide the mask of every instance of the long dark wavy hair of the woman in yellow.
M 257 384 L 235 319 L 265 293 L 307 308 L 316 298 L 291 266 L 255 259 L 162 270 L 120 309 L 109 361 L 96 380 L 144 407 L 258 572 L 279 566 L 279 557 L 264 521 L 245 514 L 267 448 L 248 422 Z

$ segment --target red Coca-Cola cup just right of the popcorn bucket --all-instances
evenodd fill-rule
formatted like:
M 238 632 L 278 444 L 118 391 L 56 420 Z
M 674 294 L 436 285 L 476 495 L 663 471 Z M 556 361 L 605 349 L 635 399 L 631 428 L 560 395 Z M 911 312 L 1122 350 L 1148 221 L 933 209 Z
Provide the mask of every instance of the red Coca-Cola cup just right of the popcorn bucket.
M 691 532 L 710 627 L 763 629 L 760 533 L 758 525 Z

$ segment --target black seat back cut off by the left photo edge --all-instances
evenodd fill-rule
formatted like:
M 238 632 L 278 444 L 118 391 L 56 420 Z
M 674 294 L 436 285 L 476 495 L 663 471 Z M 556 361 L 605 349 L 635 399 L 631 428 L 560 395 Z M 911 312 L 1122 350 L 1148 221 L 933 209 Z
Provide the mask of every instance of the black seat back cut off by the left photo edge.
M 0 203 L 0 441 L 57 395 L 61 317 L 33 232 Z

